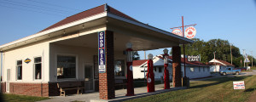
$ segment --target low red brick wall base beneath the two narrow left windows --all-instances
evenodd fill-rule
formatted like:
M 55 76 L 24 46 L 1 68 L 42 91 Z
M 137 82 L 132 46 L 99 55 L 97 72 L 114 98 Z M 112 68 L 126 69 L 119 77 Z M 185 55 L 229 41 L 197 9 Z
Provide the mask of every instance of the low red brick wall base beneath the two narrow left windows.
M 30 96 L 48 97 L 49 84 L 48 83 L 9 83 L 10 94 L 22 94 Z

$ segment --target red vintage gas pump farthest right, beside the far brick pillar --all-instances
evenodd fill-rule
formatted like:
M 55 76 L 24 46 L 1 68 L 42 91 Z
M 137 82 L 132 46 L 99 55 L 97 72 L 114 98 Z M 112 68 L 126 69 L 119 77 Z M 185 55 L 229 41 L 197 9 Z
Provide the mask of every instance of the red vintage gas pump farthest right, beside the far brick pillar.
M 170 89 L 170 82 L 169 82 L 169 71 L 168 71 L 168 49 L 164 49 L 164 55 L 163 55 L 163 58 L 164 58 L 164 67 L 165 67 L 165 89 Z

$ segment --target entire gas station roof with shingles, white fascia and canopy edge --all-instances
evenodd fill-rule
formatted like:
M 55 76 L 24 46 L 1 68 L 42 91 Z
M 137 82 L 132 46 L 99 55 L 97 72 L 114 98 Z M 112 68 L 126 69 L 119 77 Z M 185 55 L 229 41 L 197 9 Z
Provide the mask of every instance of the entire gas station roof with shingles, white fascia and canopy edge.
M 23 37 L 13 42 L 8 42 L 3 45 L 0 45 L 0 51 L 7 51 L 9 49 L 18 48 L 33 42 L 43 41 L 45 39 L 49 39 L 50 37 L 61 36 L 63 34 L 62 30 L 64 30 L 65 32 L 67 28 L 70 30 L 70 32 L 78 31 L 80 29 L 79 26 L 84 26 L 84 24 L 87 28 L 94 26 L 94 25 L 86 25 L 86 23 L 102 25 L 102 24 L 106 24 L 106 21 L 108 21 L 109 23 L 113 22 L 114 24 L 116 24 L 116 26 L 122 26 L 124 28 L 127 26 L 137 26 L 137 27 L 130 27 L 129 29 L 137 30 L 137 28 L 139 27 L 143 30 L 150 31 L 149 33 L 147 32 L 148 35 L 156 34 L 154 33 L 155 31 L 162 36 L 161 38 L 168 37 L 166 39 L 169 39 L 169 40 L 172 39 L 174 42 L 173 46 L 175 44 L 194 42 L 193 40 L 190 40 L 186 37 L 180 37 L 175 34 L 172 34 L 172 32 L 163 31 L 154 26 L 149 26 L 147 24 L 144 24 L 138 20 L 131 18 L 126 14 L 119 12 L 115 8 L 108 6 L 108 4 L 102 4 L 101 6 L 98 6 L 96 8 L 90 8 L 89 10 L 85 10 L 79 14 L 74 14 L 72 16 L 69 16 L 66 19 L 61 20 L 55 23 L 54 25 L 45 28 L 42 31 L 38 31 L 38 33 L 36 34 L 32 34 L 31 36 Z M 120 25 L 115 22 L 118 22 Z M 143 32 L 146 32 L 146 31 L 143 31 Z M 67 33 L 68 33 L 68 30 L 67 30 Z

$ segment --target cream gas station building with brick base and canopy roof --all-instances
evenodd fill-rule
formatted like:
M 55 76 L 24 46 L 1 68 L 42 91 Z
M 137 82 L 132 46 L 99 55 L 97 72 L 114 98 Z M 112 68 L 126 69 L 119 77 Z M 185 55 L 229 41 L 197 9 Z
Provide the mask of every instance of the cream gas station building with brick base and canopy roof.
M 172 47 L 180 53 L 179 44 L 194 41 L 102 4 L 1 45 L 2 93 L 48 97 L 60 94 L 58 83 L 81 82 L 84 92 L 104 90 L 100 98 L 113 99 L 115 80 L 127 75 L 123 52 L 128 42 L 135 51 Z M 98 58 L 106 62 L 101 69 Z

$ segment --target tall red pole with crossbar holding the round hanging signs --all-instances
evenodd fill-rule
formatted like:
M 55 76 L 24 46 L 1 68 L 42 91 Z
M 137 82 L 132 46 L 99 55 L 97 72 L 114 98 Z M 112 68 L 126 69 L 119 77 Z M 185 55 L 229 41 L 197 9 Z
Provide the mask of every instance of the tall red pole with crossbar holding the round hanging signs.
M 183 21 L 183 16 L 182 16 L 182 25 L 183 26 L 178 26 L 178 27 L 173 27 L 173 28 L 170 28 L 170 29 L 174 29 L 174 28 L 183 28 L 183 37 L 184 36 L 184 27 L 187 27 L 187 26 L 184 26 L 184 21 Z M 196 26 L 196 24 L 194 25 L 189 25 L 189 26 Z M 184 77 L 186 77 L 186 56 L 185 56 L 185 44 L 183 44 L 183 59 L 184 59 Z

